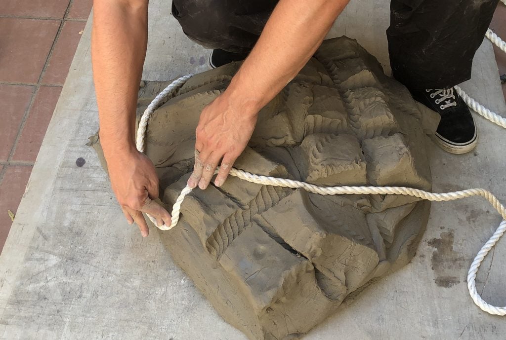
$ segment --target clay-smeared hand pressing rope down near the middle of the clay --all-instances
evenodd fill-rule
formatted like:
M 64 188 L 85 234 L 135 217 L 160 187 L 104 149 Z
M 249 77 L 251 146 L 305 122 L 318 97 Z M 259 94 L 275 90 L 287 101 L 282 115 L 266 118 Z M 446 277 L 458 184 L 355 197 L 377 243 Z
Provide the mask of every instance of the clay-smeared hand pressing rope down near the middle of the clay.
M 195 166 L 188 179 L 191 188 L 198 185 L 205 189 L 220 160 L 215 185 L 221 186 L 257 124 L 256 110 L 232 105 L 225 93 L 209 103 L 200 115 L 196 129 Z

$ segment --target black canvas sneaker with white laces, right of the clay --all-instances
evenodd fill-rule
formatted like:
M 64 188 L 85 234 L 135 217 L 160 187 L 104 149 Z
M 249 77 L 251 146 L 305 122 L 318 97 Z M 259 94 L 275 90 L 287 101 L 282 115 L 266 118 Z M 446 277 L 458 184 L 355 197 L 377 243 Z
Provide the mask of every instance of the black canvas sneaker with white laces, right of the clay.
M 436 143 L 451 154 L 465 154 L 476 147 L 478 130 L 466 103 L 453 87 L 411 90 L 413 98 L 441 116 Z

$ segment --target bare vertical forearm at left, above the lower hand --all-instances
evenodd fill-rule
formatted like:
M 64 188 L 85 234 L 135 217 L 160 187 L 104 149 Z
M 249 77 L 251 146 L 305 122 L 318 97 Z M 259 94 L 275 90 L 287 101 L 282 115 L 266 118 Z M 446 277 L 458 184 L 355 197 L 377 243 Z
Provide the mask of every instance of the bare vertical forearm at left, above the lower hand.
M 147 0 L 94 2 L 92 63 L 106 158 L 135 150 L 137 93 L 147 45 Z

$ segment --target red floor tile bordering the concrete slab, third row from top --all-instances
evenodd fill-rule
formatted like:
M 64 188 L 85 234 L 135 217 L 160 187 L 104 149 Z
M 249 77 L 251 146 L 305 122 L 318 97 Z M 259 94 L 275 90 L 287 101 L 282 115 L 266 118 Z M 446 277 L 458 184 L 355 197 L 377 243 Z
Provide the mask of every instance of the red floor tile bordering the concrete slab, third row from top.
M 40 144 L 44 139 L 49 121 L 53 117 L 61 87 L 41 86 L 35 96 L 32 109 L 28 115 L 21 137 L 14 152 L 14 161 L 34 162 Z

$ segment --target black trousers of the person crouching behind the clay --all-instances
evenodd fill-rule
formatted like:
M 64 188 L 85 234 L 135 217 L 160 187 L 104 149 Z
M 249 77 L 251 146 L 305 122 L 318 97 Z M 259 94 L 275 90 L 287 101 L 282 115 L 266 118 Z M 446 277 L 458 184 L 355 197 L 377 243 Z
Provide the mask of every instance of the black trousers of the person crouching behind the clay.
M 393 76 L 411 89 L 471 78 L 498 0 L 392 0 L 387 37 Z M 185 34 L 207 48 L 247 53 L 277 0 L 173 0 Z

